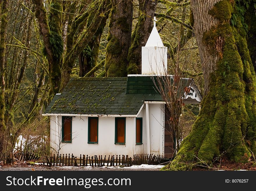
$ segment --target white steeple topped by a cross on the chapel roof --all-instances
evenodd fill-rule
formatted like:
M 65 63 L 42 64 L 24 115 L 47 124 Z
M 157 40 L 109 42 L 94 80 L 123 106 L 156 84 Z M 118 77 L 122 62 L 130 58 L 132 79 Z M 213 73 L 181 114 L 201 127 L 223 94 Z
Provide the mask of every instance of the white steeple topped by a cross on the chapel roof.
M 141 74 L 164 74 L 167 71 L 167 47 L 164 47 L 159 36 L 156 21 L 154 17 L 154 26 L 147 43 L 141 47 Z

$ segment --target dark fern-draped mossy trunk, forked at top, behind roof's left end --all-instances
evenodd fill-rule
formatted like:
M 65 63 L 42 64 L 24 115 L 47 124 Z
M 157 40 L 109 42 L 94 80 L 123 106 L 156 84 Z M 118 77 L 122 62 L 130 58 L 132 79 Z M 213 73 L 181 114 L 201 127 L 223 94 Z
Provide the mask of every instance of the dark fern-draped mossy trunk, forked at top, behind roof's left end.
M 52 0 L 50 2 L 48 18 L 43 1 L 33 0 L 33 3 L 49 65 L 50 94 L 55 95 L 59 92 L 61 83 L 61 60 L 63 56 L 63 40 L 61 36 L 62 1 Z

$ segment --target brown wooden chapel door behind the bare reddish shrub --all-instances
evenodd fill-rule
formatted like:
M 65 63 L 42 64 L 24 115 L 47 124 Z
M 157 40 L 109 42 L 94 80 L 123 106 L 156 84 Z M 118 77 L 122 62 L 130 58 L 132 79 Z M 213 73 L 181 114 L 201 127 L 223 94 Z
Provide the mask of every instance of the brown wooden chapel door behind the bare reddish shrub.
M 164 156 L 166 158 L 173 157 L 173 135 L 171 131 L 171 127 L 168 123 L 168 119 L 170 119 L 170 111 L 165 106 L 165 114 L 164 114 Z

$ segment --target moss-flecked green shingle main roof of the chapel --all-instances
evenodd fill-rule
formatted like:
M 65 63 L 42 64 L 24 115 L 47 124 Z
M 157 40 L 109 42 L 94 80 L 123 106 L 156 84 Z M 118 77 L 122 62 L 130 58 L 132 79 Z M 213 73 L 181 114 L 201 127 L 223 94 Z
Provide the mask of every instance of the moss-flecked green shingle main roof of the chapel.
M 136 115 L 144 101 L 162 101 L 152 85 L 144 88 L 148 90 L 138 86 L 136 93 L 127 93 L 127 77 L 72 78 L 45 113 Z

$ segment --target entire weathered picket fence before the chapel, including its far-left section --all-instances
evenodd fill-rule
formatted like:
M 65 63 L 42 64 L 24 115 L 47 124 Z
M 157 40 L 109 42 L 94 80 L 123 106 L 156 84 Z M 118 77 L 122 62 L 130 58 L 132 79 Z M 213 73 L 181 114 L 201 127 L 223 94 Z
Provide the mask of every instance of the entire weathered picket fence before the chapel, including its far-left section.
M 18 159 L 19 158 L 19 159 Z M 14 164 L 14 160 L 17 160 L 17 163 L 22 163 L 23 161 L 29 160 L 38 160 L 40 157 L 33 153 L 23 153 L 22 156 L 2 156 L 0 161 L 3 161 L 3 164 Z M 133 158 L 128 155 L 81 155 L 76 157 L 73 154 L 60 154 L 53 157 L 45 156 L 46 160 L 43 160 L 43 164 L 49 166 L 91 166 L 91 167 L 103 167 L 103 166 L 122 166 L 122 167 L 131 167 L 132 165 L 159 165 L 166 162 L 166 158 L 163 155 L 153 155 L 153 154 L 134 154 Z

